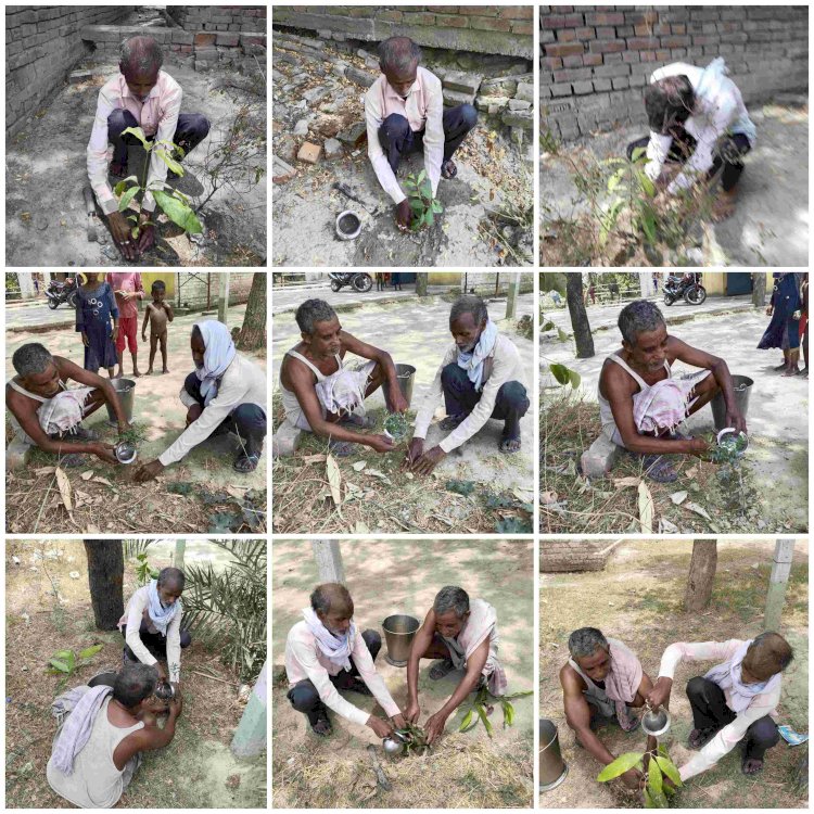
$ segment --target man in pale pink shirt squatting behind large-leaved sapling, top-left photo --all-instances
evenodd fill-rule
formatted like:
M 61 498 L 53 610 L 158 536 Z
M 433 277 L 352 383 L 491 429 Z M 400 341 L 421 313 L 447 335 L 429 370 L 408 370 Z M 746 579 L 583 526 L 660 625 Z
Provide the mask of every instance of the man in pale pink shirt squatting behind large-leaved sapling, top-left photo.
M 180 161 L 206 138 L 209 123 L 200 113 L 181 113 L 181 86 L 161 69 L 164 54 L 152 37 L 128 37 L 122 42 L 118 71 L 99 91 L 93 129 L 87 150 L 88 179 L 99 206 L 107 216 L 113 241 L 128 260 L 135 260 L 155 243 L 152 220 L 155 199 L 148 192 L 141 202 L 139 237 L 131 236 L 132 224 L 118 211 L 118 201 L 107 180 L 107 142 L 113 144 L 110 174 L 127 176 L 128 145 L 141 142 L 123 135 L 128 127 L 140 127 L 149 140 L 171 141 L 182 151 Z M 168 145 L 165 145 L 168 150 Z M 177 151 L 176 151 L 177 153 Z M 170 177 L 175 177 L 170 173 Z M 147 186 L 162 187 L 167 165 L 157 151 L 150 157 Z

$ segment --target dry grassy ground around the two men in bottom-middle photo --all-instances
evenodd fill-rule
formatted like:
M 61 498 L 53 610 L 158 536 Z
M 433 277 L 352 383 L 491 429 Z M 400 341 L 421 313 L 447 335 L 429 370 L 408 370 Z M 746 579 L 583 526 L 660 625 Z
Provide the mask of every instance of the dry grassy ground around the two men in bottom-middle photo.
M 355 540 L 342 543 L 347 588 L 355 603 L 359 631 L 382 635 L 376 661 L 395 702 L 407 702 L 406 669 L 387 664 L 381 623 L 393 613 L 419 621 L 445 585 L 462 587 L 470 598 L 482 598 L 497 611 L 500 637 L 498 656 L 508 677 L 509 694 L 532 688 L 534 675 L 533 546 L 519 540 L 472 543 L 445 539 L 409 543 Z M 423 755 L 391 758 L 367 726 L 352 724 L 329 712 L 333 734 L 310 733 L 304 714 L 285 697 L 285 638 L 308 607 L 308 596 L 319 583 L 310 546 L 303 540 L 276 540 L 274 547 L 274 805 L 287 807 L 374 809 L 497 809 L 530 807 L 533 801 L 533 696 L 512 701 L 514 724 L 501 726 L 495 704 L 489 739 L 482 724 L 458 733 L 474 698 L 469 698 L 447 720 L 445 735 Z M 419 671 L 419 726 L 451 695 L 461 673 L 429 678 L 429 659 Z M 383 716 L 376 699 L 343 694 L 363 710 Z M 367 747 L 372 745 L 392 789 L 377 785 Z

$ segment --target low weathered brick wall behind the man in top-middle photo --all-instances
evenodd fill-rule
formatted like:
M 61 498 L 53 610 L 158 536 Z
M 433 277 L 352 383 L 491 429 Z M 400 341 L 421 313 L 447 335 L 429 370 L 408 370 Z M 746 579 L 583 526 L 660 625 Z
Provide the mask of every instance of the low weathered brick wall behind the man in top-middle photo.
M 533 16 L 531 5 L 276 5 L 271 22 L 339 40 L 404 36 L 420 46 L 532 60 Z

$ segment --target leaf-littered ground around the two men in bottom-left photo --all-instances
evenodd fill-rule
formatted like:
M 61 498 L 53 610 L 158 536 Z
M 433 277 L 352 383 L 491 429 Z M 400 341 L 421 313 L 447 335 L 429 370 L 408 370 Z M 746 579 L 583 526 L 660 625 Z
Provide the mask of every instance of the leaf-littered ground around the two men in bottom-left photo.
M 169 565 L 170 557 L 151 554 L 150 564 Z M 125 603 L 137 587 L 135 560 L 126 560 Z M 51 702 L 97 673 L 119 670 L 124 647 L 118 631 L 96 628 L 87 559 L 79 540 L 7 546 L 5 640 L 5 805 L 75 807 L 54 793 L 46 778 L 56 732 Z M 47 672 L 55 651 L 78 652 L 96 644 L 104 648 L 67 681 Z M 220 663 L 219 649 L 204 645 L 194 631 L 192 645 L 183 651 L 181 678 L 183 712 L 175 738 L 165 749 L 142 753 L 142 763 L 117 807 L 265 807 L 266 755 L 238 760 L 229 749 L 245 709 L 236 700 L 239 679 Z

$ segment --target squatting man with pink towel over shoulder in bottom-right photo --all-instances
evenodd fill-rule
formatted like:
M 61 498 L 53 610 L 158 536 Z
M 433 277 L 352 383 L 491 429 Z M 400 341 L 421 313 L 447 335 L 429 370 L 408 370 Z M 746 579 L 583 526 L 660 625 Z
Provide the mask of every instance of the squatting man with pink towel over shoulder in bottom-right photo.
M 594 729 L 603 721 L 615 720 L 624 732 L 634 732 L 639 718 L 631 710 L 644 707 L 653 683 L 633 650 L 618 639 L 606 638 L 596 627 L 574 631 L 568 650 L 569 660 L 560 670 L 565 720 L 576 742 L 607 766 L 619 755 L 608 750 Z M 648 751 L 656 747 L 656 738 L 648 736 Z M 620 779 L 627 788 L 638 789 L 641 775 L 634 767 Z

